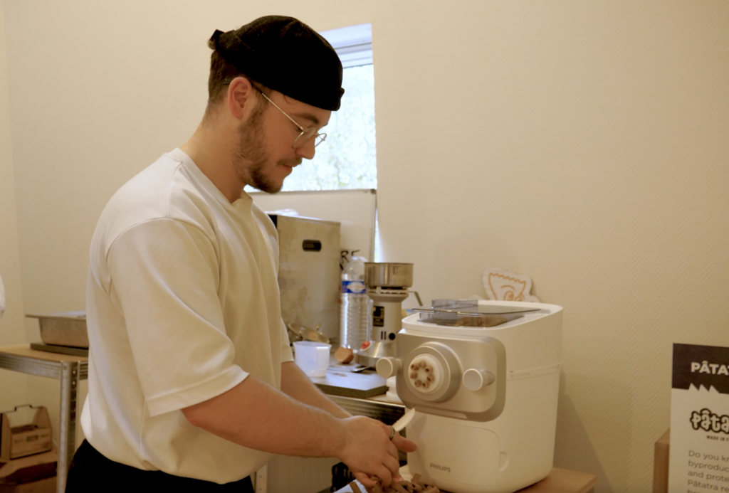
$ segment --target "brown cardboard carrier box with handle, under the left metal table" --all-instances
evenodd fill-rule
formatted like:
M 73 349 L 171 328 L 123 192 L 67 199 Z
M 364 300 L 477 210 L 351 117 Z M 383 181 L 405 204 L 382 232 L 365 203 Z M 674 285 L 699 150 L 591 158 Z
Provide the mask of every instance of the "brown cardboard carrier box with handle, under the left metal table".
M 27 405 L 26 405 L 27 406 Z M 9 462 L 13 459 L 26 457 L 32 454 L 40 454 L 52 449 L 50 419 L 48 411 L 44 407 L 34 408 L 36 412 L 33 421 L 20 425 L 10 424 L 11 415 L 14 411 L 0 414 L 0 462 Z

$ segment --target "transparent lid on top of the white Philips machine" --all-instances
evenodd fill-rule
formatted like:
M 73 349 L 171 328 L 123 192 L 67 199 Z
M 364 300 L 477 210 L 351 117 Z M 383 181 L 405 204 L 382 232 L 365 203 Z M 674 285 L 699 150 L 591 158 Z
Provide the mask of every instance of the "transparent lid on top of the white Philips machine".
M 413 308 L 421 322 L 448 327 L 495 327 L 534 312 L 539 308 L 483 305 L 464 299 L 436 299 L 432 308 Z

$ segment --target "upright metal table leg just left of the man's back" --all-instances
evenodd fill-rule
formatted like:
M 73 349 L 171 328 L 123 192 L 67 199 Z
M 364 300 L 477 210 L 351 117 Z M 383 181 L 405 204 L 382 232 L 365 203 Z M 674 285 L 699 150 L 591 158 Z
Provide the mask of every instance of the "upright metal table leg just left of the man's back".
M 71 457 L 76 451 L 77 392 L 79 388 L 79 363 L 61 363 L 61 430 L 58 446 L 58 476 L 56 493 L 66 491 L 66 477 L 69 475 Z

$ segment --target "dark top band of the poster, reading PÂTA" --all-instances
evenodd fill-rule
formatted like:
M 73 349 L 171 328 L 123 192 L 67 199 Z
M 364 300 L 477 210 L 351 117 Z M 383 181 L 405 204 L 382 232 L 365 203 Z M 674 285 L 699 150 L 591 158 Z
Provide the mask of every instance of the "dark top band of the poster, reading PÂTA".
M 674 344 L 671 387 L 688 390 L 691 384 L 729 394 L 729 347 Z

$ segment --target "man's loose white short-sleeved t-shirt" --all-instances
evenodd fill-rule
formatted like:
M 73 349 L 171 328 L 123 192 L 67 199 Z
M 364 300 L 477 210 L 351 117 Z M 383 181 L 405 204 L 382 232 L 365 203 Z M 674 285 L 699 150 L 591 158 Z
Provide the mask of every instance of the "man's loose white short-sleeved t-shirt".
M 270 218 L 245 193 L 231 204 L 180 149 L 122 186 L 90 248 L 81 422 L 91 445 L 219 484 L 265 465 L 270 454 L 192 426 L 181 409 L 249 374 L 281 388 L 293 358 L 277 271 Z

